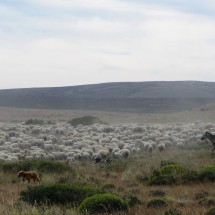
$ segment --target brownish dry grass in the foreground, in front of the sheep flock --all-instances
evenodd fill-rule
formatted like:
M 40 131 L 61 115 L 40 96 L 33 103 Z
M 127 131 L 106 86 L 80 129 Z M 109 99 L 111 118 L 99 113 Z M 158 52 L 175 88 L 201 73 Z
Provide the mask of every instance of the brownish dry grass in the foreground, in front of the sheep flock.
M 214 156 L 210 148 L 205 145 L 187 145 L 184 149 L 166 149 L 163 152 L 154 151 L 152 155 L 140 151 L 128 159 L 114 160 L 111 164 L 96 164 L 94 161 L 77 161 L 69 169 L 58 173 L 42 172 L 41 184 L 53 184 L 59 181 L 68 183 L 88 183 L 97 188 L 107 188 L 107 192 L 119 196 L 137 197 L 141 204 L 130 208 L 129 215 L 158 215 L 165 214 L 170 208 L 180 210 L 186 215 L 202 215 L 215 204 L 215 190 L 213 181 L 190 182 L 173 185 L 147 185 L 140 180 L 149 176 L 152 171 L 160 167 L 161 161 L 176 162 L 192 169 L 202 166 L 214 165 Z M 2 167 L 3 164 L 1 164 Z M 68 164 L 64 164 L 68 165 Z M 74 174 L 75 173 L 75 174 Z M 37 186 L 31 184 L 30 186 Z M 27 182 L 21 182 L 13 171 L 0 171 L 0 214 L 74 214 L 77 212 L 71 206 L 48 205 L 32 206 L 19 201 L 20 192 L 26 190 Z M 147 203 L 155 198 L 157 191 L 165 193 L 166 207 L 149 208 Z M 207 193 L 207 197 L 214 204 L 199 204 L 197 197 L 201 193 Z

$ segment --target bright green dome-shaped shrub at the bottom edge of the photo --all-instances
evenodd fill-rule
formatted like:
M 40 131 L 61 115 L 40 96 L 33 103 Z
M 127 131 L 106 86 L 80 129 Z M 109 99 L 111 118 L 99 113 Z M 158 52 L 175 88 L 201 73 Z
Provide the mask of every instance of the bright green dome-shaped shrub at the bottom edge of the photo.
M 128 211 L 128 203 L 113 194 L 97 194 L 86 198 L 78 207 L 78 212 L 85 214 L 113 213 Z

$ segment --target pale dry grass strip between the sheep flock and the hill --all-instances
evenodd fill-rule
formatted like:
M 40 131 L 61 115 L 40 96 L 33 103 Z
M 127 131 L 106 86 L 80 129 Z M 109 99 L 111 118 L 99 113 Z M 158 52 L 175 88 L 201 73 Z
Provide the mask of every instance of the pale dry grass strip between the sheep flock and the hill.
M 20 122 L 28 119 L 68 121 L 72 118 L 92 115 L 108 123 L 171 123 L 171 122 L 215 122 L 215 110 L 194 109 L 177 113 L 126 113 L 82 110 L 48 110 L 0 107 L 1 122 Z

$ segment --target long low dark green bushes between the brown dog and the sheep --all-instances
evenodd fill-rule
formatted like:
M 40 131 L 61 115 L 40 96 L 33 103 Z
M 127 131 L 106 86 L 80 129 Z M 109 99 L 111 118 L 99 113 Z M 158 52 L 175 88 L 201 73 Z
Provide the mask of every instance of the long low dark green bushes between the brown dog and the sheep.
M 67 165 L 58 161 L 19 161 L 15 163 L 4 163 L 2 165 L 3 172 L 18 172 L 18 171 L 29 171 L 37 170 L 39 172 L 62 172 L 71 170 Z

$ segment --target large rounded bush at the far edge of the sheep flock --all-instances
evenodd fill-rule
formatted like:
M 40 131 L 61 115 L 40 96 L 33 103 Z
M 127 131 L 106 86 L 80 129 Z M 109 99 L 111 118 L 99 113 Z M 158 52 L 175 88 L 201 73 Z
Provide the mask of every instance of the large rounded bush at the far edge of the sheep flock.
M 98 117 L 94 116 L 83 116 L 70 120 L 68 122 L 70 125 L 76 127 L 78 125 L 93 125 L 95 123 L 102 123 Z

